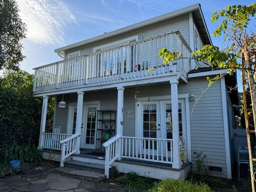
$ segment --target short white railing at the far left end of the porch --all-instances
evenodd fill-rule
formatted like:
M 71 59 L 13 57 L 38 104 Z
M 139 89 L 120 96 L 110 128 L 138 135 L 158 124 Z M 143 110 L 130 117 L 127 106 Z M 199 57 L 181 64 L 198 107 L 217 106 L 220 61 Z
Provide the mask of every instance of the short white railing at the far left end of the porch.
M 60 150 L 60 141 L 70 137 L 72 134 L 61 134 L 61 133 L 43 133 L 42 134 L 42 146 L 45 149 Z

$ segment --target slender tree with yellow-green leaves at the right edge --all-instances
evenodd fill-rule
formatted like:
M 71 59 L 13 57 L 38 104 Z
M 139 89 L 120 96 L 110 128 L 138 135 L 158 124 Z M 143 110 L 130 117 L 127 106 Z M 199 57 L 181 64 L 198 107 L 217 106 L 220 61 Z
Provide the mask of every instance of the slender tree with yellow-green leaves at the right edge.
M 256 4 L 249 6 L 245 5 L 231 5 L 227 6 L 225 10 L 220 10 L 212 14 L 211 21 L 215 22 L 220 19 L 220 25 L 213 31 L 213 35 L 223 37 L 223 47 L 214 45 L 205 45 L 202 49 L 193 52 L 191 59 L 203 62 L 211 68 L 228 69 L 228 74 L 231 75 L 236 69 L 242 71 L 243 76 L 243 102 L 245 110 L 245 124 L 246 130 L 249 130 L 249 115 L 252 113 L 252 126 L 256 130 L 256 87 L 255 87 L 255 68 L 256 68 L 256 35 L 252 30 L 249 37 L 246 29 L 254 29 L 252 21 L 255 21 Z M 177 59 L 184 59 L 180 52 L 170 52 L 166 48 L 159 50 L 158 56 L 164 59 L 164 63 L 169 63 Z M 209 86 L 218 81 L 220 77 L 226 74 L 220 74 L 214 78 L 207 77 Z M 249 85 L 251 109 L 247 110 L 247 99 L 245 84 Z M 252 111 L 252 112 L 251 112 Z M 250 151 L 249 151 L 250 155 Z M 250 155 L 251 156 L 251 155 Z M 254 189 L 253 170 L 251 168 L 251 182 L 252 189 Z

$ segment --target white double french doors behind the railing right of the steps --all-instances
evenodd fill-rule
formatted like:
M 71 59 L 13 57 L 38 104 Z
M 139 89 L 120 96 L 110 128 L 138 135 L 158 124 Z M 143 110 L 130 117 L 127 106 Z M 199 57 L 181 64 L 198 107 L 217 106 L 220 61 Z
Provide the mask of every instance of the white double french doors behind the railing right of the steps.
M 186 132 L 186 108 L 185 100 L 178 101 L 179 117 L 179 137 L 187 138 Z M 172 139 L 172 109 L 171 101 L 150 101 L 141 102 L 139 111 L 139 137 L 150 138 L 144 139 L 140 143 L 140 148 L 146 151 L 147 155 L 156 155 L 156 150 L 164 151 L 165 155 L 171 157 L 172 142 L 161 141 L 158 139 Z M 155 140 L 153 139 L 155 138 Z M 164 144 L 163 144 L 164 143 Z M 158 149 L 157 149 L 158 147 Z M 149 153 L 150 151 L 150 153 Z M 146 154 L 144 154 L 146 155 Z M 155 158 L 155 157 L 154 157 Z

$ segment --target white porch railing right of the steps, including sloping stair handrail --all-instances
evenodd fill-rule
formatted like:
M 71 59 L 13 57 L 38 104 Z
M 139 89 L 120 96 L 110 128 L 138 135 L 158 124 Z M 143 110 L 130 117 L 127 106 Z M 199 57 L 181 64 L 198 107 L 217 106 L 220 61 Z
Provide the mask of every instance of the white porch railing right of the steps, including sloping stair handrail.
M 173 163 L 172 139 L 119 137 L 103 143 L 105 147 L 105 174 L 109 178 L 109 165 L 118 158 L 140 159 L 143 161 Z

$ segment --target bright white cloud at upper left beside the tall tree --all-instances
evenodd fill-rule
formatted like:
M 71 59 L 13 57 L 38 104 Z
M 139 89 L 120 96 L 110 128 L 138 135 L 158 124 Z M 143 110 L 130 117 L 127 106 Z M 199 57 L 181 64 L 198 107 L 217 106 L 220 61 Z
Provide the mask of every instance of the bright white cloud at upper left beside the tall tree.
M 62 1 L 18 0 L 20 16 L 27 25 L 27 39 L 41 45 L 63 44 L 63 27 L 75 16 Z

